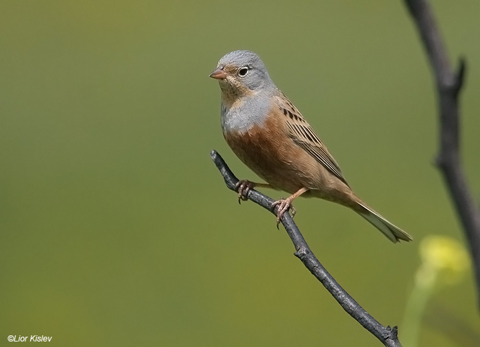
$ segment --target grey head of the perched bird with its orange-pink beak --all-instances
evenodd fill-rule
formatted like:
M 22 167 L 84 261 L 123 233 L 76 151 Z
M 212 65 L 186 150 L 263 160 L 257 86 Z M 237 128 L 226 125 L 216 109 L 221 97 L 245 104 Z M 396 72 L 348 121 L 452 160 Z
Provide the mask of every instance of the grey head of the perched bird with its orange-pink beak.
M 243 97 L 259 91 L 276 89 L 265 64 L 252 51 L 227 53 L 219 60 L 217 69 L 210 77 L 219 80 L 221 90 L 231 97 Z

